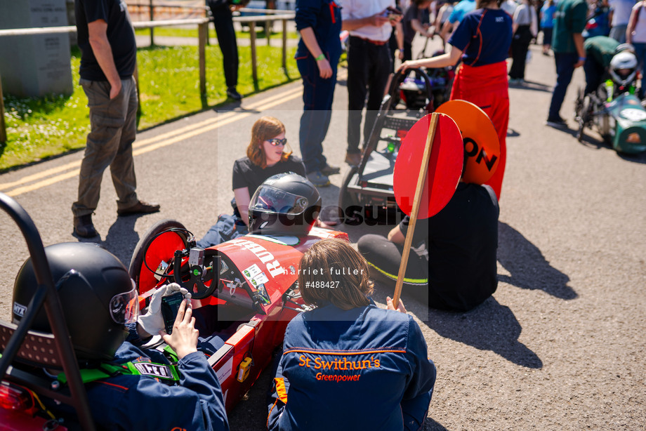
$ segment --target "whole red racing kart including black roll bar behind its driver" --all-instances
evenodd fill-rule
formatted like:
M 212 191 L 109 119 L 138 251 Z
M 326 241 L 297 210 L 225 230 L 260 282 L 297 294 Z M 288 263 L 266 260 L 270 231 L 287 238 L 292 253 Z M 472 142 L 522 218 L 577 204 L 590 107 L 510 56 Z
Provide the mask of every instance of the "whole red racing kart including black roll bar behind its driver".
M 0 320 L 0 429 L 94 430 L 39 232 L 25 210 L 2 193 L 0 208 L 25 236 L 39 284 L 19 325 Z M 130 273 L 140 289 L 141 306 L 154 289 L 171 281 L 192 291 L 192 306 L 202 320 L 200 335 L 216 333 L 225 340 L 209 363 L 230 410 L 270 363 L 289 320 L 307 309 L 296 284 L 301 256 L 316 241 L 331 237 L 348 239 L 343 232 L 313 228 L 304 237 L 250 234 L 204 250 L 183 225 L 165 220 L 139 241 Z M 52 333 L 29 330 L 43 307 Z M 42 378 L 44 368 L 62 369 L 67 385 Z M 77 416 L 61 423 L 51 407 L 60 403 L 72 406 Z

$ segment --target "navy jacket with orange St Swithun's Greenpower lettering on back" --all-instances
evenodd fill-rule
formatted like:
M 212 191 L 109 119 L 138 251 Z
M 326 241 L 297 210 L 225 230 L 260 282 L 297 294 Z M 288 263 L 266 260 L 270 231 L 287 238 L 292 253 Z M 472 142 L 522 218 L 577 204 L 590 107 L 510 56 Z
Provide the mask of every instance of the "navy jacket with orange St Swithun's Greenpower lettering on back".
M 412 317 L 374 305 L 334 305 L 287 325 L 270 430 L 418 430 L 435 365 Z

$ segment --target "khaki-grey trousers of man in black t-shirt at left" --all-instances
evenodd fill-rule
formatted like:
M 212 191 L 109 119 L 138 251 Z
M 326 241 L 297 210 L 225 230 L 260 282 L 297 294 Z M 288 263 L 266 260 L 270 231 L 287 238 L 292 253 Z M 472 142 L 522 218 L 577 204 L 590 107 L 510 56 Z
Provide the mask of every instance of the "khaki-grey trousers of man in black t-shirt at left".
M 132 156 L 136 138 L 137 87 L 133 77 L 121 79 L 121 92 L 110 100 L 107 81 L 82 79 L 79 84 L 88 96 L 91 131 L 81 173 L 79 198 L 72 204 L 72 213 L 79 217 L 92 213 L 98 204 L 103 171 L 110 166 L 112 183 L 117 191 L 117 209 L 137 204 L 137 180 Z

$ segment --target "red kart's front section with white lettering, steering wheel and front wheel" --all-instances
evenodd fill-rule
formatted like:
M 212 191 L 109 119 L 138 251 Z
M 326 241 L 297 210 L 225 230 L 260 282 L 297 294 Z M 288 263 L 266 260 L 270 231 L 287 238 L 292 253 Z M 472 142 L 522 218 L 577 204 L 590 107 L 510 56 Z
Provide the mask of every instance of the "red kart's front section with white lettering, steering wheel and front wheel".
M 324 238 L 348 234 L 312 227 L 305 237 L 247 234 L 202 249 L 181 223 L 162 220 L 139 241 L 129 271 L 142 309 L 169 282 L 192 293 L 200 336 L 225 340 L 209 364 L 230 410 L 270 363 L 289 321 L 307 310 L 296 283 L 299 262 Z

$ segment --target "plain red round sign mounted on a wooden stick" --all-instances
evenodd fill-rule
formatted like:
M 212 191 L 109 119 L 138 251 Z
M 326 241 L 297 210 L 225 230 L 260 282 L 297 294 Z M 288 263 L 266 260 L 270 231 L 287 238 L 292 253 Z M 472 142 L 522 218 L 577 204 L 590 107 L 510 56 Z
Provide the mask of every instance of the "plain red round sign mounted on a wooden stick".
M 432 115 L 438 117 L 437 128 L 417 218 L 432 217 L 449 203 L 462 172 L 462 135 L 455 121 L 444 114 L 426 115 L 411 127 L 397 154 L 393 173 L 397 205 L 411 215 Z

